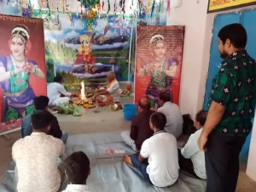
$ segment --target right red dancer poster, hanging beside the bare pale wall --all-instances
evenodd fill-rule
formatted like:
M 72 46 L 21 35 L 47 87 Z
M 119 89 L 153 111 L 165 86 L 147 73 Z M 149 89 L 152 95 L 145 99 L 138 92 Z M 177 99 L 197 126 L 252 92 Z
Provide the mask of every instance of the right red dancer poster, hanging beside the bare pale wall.
M 146 97 L 158 108 L 167 92 L 178 104 L 183 40 L 184 26 L 137 27 L 135 103 Z

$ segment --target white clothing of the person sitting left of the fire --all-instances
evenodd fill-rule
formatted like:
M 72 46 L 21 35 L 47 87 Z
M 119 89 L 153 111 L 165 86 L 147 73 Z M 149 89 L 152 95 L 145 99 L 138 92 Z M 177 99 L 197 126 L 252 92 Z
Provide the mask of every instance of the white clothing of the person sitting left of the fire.
M 65 99 L 61 98 L 61 94 L 65 95 Z M 49 98 L 49 106 L 58 104 L 66 104 L 67 98 L 71 96 L 72 93 L 66 91 L 66 89 L 58 82 L 51 82 L 47 85 L 47 96 Z M 61 99 L 55 101 L 55 99 Z M 69 101 L 69 100 L 68 100 Z M 61 103 L 62 102 L 62 103 Z

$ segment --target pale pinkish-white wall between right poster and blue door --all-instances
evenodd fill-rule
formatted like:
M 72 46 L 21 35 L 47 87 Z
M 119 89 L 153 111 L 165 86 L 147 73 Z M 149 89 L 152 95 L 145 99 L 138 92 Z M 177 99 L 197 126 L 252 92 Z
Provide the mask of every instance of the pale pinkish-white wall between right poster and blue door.
M 183 1 L 172 8 L 167 25 L 185 25 L 183 67 L 179 105 L 182 113 L 195 116 L 202 109 L 209 65 L 213 15 L 207 15 L 207 1 Z

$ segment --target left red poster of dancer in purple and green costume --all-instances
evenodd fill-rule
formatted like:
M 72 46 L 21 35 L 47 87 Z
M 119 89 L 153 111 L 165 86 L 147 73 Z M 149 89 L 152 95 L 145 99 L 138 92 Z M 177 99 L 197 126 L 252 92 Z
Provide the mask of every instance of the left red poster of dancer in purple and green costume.
M 44 25 L 41 19 L 0 14 L 0 122 L 34 111 L 36 95 L 46 95 Z

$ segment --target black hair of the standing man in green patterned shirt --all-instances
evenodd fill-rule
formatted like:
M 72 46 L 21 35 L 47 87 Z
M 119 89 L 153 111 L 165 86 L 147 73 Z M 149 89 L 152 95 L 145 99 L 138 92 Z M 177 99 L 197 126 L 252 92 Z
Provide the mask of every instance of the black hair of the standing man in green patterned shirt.
M 225 25 L 219 32 L 218 38 L 225 43 L 230 39 L 230 43 L 235 48 L 245 48 L 247 45 L 247 31 L 238 23 Z

